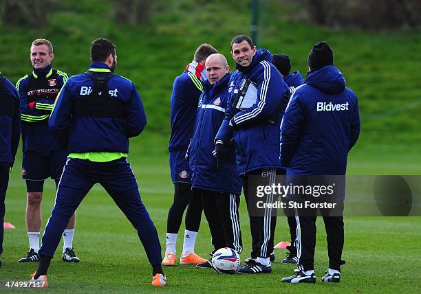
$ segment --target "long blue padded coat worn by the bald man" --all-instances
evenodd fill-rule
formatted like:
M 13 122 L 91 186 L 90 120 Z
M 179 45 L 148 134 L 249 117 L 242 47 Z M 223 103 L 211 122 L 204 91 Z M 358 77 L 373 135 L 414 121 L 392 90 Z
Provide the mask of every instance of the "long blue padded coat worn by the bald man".
M 230 76 L 230 73 L 226 74 L 214 86 L 208 81 L 204 83 L 204 92 L 200 96 L 197 109 L 195 131 L 187 153 L 193 188 L 240 194 L 241 180 L 237 175 L 233 144 L 228 145 L 230 150 L 219 170 L 213 155 L 214 139 L 225 117 Z

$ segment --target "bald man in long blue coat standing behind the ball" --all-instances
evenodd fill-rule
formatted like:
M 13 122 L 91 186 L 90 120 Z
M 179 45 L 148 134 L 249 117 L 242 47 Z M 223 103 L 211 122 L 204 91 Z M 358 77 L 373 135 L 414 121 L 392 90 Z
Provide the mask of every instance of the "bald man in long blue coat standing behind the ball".
M 215 158 L 215 136 L 225 117 L 230 67 L 222 54 L 212 54 L 205 63 L 208 81 L 199 98 L 195 130 L 187 155 L 193 193 L 202 199 L 212 235 L 213 252 L 222 247 L 243 251 L 239 226 L 241 179 L 237 175 L 234 146 L 226 146 L 224 163 Z M 210 261 L 197 267 L 211 267 Z

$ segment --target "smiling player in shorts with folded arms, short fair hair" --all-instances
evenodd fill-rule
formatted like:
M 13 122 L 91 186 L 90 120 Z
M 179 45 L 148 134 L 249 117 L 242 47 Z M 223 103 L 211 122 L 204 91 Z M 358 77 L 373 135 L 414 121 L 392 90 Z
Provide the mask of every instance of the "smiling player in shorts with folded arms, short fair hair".
M 48 129 L 48 118 L 58 91 L 68 76 L 52 68 L 54 59 L 52 43 L 36 39 L 30 49 L 32 73 L 18 80 L 16 87 L 21 97 L 22 121 L 22 178 L 25 179 L 28 204 L 26 225 L 30 250 L 19 262 L 39 261 L 39 234 L 41 229 L 41 201 L 44 180 L 54 179 L 56 186 L 67 159 L 65 146 L 60 146 Z M 75 215 L 70 218 L 63 232 L 63 261 L 79 262 L 73 251 Z

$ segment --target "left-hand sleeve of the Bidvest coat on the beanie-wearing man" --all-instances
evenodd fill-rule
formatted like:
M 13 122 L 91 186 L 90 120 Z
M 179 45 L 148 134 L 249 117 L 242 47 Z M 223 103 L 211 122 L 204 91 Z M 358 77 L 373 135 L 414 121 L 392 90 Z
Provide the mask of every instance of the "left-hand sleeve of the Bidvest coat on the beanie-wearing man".
M 292 156 L 296 151 L 304 124 L 303 109 L 304 107 L 299 100 L 299 93 L 295 93 L 288 103 L 281 122 L 281 150 L 279 159 L 283 168 L 288 168 Z

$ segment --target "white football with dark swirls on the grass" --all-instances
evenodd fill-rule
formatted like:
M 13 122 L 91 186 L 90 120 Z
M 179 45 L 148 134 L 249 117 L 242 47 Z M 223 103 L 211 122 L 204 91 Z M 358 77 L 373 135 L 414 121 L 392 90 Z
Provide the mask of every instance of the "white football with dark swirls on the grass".
M 240 265 L 240 258 L 234 249 L 224 247 L 218 249 L 212 256 L 212 268 L 217 273 L 233 275 Z

